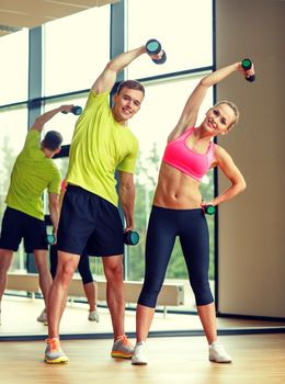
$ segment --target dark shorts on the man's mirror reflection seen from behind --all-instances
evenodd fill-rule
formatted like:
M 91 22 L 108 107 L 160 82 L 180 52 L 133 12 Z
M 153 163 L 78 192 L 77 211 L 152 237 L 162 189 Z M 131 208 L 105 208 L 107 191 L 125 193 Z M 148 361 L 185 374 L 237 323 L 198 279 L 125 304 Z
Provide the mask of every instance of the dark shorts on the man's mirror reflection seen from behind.
M 0 248 L 16 251 L 22 238 L 26 252 L 47 249 L 46 224 L 39 218 L 8 206 L 2 219 Z

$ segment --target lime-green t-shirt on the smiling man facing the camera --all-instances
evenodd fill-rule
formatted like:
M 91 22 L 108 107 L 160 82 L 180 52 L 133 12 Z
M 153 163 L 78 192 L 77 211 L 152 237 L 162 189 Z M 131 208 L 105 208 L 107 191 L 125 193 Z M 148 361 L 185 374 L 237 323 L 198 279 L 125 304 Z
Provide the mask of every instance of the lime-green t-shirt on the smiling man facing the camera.
M 109 106 L 109 92 L 89 93 L 69 153 L 67 183 L 90 191 L 117 205 L 115 170 L 134 173 L 138 140 L 117 123 Z

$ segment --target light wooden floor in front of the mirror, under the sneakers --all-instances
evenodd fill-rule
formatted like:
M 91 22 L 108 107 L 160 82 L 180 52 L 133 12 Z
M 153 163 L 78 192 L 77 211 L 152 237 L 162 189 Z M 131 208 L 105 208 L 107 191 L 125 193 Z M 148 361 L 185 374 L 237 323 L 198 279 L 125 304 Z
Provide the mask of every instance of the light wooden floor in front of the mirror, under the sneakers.
M 43 341 L 1 342 L 2 384 L 284 384 L 285 334 L 223 336 L 231 364 L 210 363 L 204 337 L 150 338 L 149 364 L 112 359 L 112 340 L 68 340 L 67 365 L 43 362 Z

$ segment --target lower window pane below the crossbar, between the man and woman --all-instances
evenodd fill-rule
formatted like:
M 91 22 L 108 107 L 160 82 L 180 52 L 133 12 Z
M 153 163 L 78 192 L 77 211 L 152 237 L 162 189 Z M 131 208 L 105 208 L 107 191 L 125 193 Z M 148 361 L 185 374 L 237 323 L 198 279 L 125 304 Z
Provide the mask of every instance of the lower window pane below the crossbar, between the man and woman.
M 142 280 L 144 278 L 146 227 L 167 137 L 171 129 L 174 128 L 190 93 L 200 78 L 186 78 L 146 86 L 146 98 L 141 104 L 141 109 L 129 122 L 129 126 L 137 136 L 140 145 L 140 156 L 135 176 L 135 229 L 140 234 L 140 242 L 136 247 L 128 247 L 127 250 L 127 278 L 129 280 Z M 202 122 L 205 112 L 212 105 L 213 92 L 209 90 L 201 108 L 197 125 Z M 207 196 L 213 195 L 212 171 L 204 177 L 201 190 L 204 199 L 209 199 Z M 213 218 L 209 221 L 212 221 L 209 223 L 209 231 L 212 237 L 210 257 L 213 274 L 214 222 Z M 179 244 L 175 245 L 173 250 L 167 279 L 184 280 L 185 285 L 189 285 L 186 267 Z M 185 292 L 189 294 L 189 291 L 187 286 Z M 191 305 L 193 306 L 194 302 L 192 298 L 186 298 L 187 309 Z

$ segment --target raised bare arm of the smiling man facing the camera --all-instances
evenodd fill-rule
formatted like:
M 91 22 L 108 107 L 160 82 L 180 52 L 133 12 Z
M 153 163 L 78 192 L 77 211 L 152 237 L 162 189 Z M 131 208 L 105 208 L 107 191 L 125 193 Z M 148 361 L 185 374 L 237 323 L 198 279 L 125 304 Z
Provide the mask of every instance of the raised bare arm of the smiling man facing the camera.
M 110 91 L 116 81 L 117 74 L 145 53 L 146 47 L 142 45 L 139 48 L 125 52 L 113 58 L 111 61 L 109 61 L 103 72 L 99 76 L 92 86 L 93 91 L 95 93 Z

